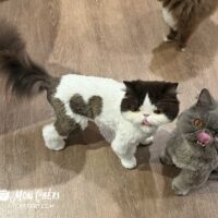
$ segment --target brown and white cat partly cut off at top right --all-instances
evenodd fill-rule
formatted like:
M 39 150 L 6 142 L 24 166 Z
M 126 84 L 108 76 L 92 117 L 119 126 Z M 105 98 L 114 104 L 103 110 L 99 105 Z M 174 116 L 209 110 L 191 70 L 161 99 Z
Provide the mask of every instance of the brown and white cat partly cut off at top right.
M 186 43 L 197 26 L 218 7 L 218 0 L 159 0 L 162 15 L 170 27 L 166 41 L 178 41 L 184 51 Z

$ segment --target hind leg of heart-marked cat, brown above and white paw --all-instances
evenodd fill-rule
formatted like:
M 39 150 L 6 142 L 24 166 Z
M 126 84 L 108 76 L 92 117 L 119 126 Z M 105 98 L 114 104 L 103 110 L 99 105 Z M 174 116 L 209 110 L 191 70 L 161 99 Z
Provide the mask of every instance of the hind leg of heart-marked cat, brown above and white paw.
M 70 118 L 58 119 L 55 123 L 45 125 L 43 136 L 46 147 L 52 150 L 63 149 L 69 134 L 77 130 L 80 130 L 80 125 Z

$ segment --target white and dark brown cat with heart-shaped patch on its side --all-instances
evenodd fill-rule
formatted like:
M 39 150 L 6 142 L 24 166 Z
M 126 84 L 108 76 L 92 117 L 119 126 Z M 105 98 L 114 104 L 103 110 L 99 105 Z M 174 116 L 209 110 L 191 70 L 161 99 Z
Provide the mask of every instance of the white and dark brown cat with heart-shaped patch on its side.
M 63 149 L 65 138 L 95 122 L 125 168 L 134 168 L 140 143 L 152 142 L 158 126 L 179 112 L 178 83 L 117 82 L 111 78 L 66 74 L 49 75 L 34 63 L 14 28 L 0 26 L 0 65 L 12 92 L 31 96 L 43 90 L 56 113 L 56 121 L 43 129 L 48 148 Z

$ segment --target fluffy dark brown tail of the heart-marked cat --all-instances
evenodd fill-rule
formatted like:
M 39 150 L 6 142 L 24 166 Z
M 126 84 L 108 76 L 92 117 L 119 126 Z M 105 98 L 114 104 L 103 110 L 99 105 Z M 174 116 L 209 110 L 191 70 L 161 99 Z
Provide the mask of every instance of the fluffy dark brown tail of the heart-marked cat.
M 7 76 L 7 88 L 19 97 L 47 89 L 51 76 L 36 64 L 25 50 L 16 28 L 0 22 L 0 72 Z

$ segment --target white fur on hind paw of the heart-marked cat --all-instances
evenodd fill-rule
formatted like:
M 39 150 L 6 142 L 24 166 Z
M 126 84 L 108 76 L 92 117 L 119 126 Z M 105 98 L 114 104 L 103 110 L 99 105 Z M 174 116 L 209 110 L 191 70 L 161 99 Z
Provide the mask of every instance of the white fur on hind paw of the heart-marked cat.
M 43 136 L 46 147 L 49 149 L 61 150 L 65 147 L 64 137 L 58 134 L 53 123 L 44 126 Z

